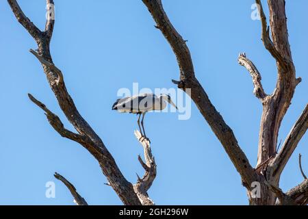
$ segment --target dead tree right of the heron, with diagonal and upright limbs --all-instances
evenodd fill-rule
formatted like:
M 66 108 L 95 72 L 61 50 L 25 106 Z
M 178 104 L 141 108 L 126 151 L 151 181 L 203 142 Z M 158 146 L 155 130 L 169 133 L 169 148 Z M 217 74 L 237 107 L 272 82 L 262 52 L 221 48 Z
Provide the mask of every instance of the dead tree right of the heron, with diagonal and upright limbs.
M 177 57 L 180 70 L 180 80 L 173 81 L 179 88 L 185 91 L 191 88 L 190 97 L 196 103 L 198 110 L 214 131 L 218 140 L 229 155 L 236 170 L 242 177 L 242 184 L 246 187 L 249 203 L 251 205 L 307 205 L 308 203 L 308 180 L 283 193 L 279 189 L 281 172 L 290 159 L 292 153 L 308 128 L 308 105 L 300 118 L 292 127 L 279 152 L 277 138 L 281 121 L 291 104 L 294 91 L 301 79 L 296 78 L 295 67 L 287 34 L 287 18 L 285 15 L 284 0 L 268 0 L 270 9 L 270 27 L 266 21 L 261 1 L 259 5 L 261 16 L 261 39 L 264 46 L 277 62 L 278 79 L 272 94 L 266 94 L 261 84 L 261 75 L 253 62 L 248 60 L 245 53 L 240 54 L 238 62 L 247 68 L 253 78 L 254 94 L 263 105 L 261 127 L 259 131 L 259 145 L 257 166 L 253 168 L 236 140 L 232 129 L 225 123 L 222 116 L 209 100 L 207 93 L 196 79 L 190 50 L 185 40 L 177 32 L 164 12 L 162 0 L 142 0 L 153 16 L 156 28 L 168 40 L 173 52 Z M 272 38 L 270 38 L 270 31 Z M 261 196 L 253 194 L 252 183 L 259 182 Z M 278 201 L 277 201 L 278 198 Z

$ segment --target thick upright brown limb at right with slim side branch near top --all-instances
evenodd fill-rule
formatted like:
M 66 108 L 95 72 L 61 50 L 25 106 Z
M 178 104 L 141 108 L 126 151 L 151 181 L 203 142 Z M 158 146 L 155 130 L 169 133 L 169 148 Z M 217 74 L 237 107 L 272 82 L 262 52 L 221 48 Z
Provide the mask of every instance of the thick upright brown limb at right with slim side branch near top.
M 259 166 L 259 164 L 264 163 L 270 157 L 274 157 L 277 153 L 277 138 L 281 121 L 290 107 L 298 79 L 296 79 L 296 70 L 292 61 L 288 40 L 285 1 L 268 0 L 271 29 L 266 23 L 266 16 L 261 1 L 256 0 L 256 3 L 259 4 L 261 15 L 262 40 L 266 49 L 277 60 L 278 71 L 276 88 L 263 104 L 257 158 L 257 166 Z M 270 30 L 272 32 L 272 40 L 270 40 Z M 268 169 L 268 171 L 272 170 Z M 267 174 L 268 176 L 269 174 Z M 278 183 L 279 176 L 273 180 Z

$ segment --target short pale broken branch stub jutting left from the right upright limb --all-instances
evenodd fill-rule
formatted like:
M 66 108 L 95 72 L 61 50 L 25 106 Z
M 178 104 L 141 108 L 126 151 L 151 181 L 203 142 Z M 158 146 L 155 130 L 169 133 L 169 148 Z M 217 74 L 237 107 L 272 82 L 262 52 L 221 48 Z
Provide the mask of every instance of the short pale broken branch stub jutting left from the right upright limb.
M 244 66 L 248 72 L 251 74 L 251 77 L 253 78 L 253 86 L 255 87 L 253 89 L 253 93 L 257 98 L 259 98 L 262 102 L 264 101 L 264 98 L 268 96 L 266 92 L 264 92 L 262 83 L 261 83 L 261 75 L 259 73 L 259 70 L 255 67 L 253 62 L 251 60 L 248 60 L 245 53 L 241 53 L 238 57 L 238 63 L 241 66 Z

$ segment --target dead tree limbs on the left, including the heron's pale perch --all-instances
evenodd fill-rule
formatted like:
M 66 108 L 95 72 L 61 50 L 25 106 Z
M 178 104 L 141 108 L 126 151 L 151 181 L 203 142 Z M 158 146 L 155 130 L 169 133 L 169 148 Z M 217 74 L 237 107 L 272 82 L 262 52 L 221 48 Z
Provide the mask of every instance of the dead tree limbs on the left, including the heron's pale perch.
M 34 51 L 30 49 L 30 52 L 35 55 L 38 61 L 42 64 L 44 73 L 47 76 L 47 81 L 57 98 L 57 102 L 60 105 L 61 110 L 64 112 L 68 121 L 76 129 L 77 133 L 66 129 L 60 120 L 60 118 L 53 114 L 43 103 L 29 94 L 29 99 L 33 101 L 38 107 L 44 110 L 50 125 L 59 133 L 62 137 L 73 140 L 81 146 L 84 146 L 95 159 L 99 162 L 99 166 L 103 171 L 103 174 L 107 178 L 108 185 L 110 185 L 116 194 L 120 197 L 125 205 L 153 205 L 153 201 L 149 198 L 147 191 L 151 187 L 156 176 L 156 164 L 151 153 L 151 147 L 147 140 L 140 140 L 144 147 L 144 157 L 146 163 L 144 163 L 141 157 L 138 160 L 144 167 L 144 177 L 140 179 L 136 184 L 132 184 L 123 176 L 122 172 L 118 168 L 114 157 L 107 150 L 105 144 L 97 136 L 97 133 L 90 127 L 86 120 L 79 114 L 73 99 L 68 94 L 64 83 L 64 77 L 59 68 L 53 64 L 53 60 L 50 53 L 49 44 L 53 35 L 53 26 L 55 24 L 52 17 L 53 0 L 47 0 L 48 19 L 44 31 L 40 31 L 34 23 L 32 23 L 27 16 L 23 13 L 23 10 L 19 7 L 16 0 L 8 0 L 12 12 L 17 18 L 17 21 L 27 29 L 29 34 L 36 40 L 38 49 Z M 139 133 L 136 132 L 136 136 L 139 137 Z M 138 138 L 139 140 L 140 138 Z M 78 205 L 86 205 L 86 201 L 77 192 L 74 186 L 69 183 L 61 175 L 55 173 L 55 177 L 60 179 L 68 187 L 70 192 L 75 198 L 75 202 Z

